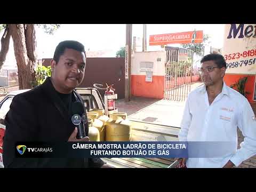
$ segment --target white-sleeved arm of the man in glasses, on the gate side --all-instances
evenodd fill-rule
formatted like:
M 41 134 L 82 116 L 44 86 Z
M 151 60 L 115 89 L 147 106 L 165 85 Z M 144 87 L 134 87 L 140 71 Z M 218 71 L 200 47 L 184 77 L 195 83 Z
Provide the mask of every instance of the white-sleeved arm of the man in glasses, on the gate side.
M 192 115 L 189 111 L 189 95 L 186 101 L 183 117 L 181 121 L 181 130 L 179 132 L 179 141 L 187 141 L 188 129 L 191 123 Z

